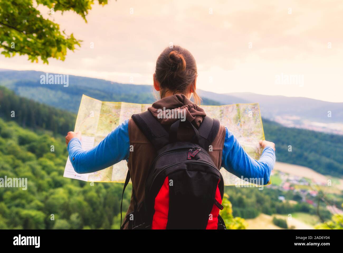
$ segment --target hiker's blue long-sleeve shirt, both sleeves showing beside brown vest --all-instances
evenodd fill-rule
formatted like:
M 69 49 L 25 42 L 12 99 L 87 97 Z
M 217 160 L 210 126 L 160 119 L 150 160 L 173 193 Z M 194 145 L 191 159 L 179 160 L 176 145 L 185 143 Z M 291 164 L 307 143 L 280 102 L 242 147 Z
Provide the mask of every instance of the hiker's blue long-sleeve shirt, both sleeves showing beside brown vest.
M 267 183 L 275 164 L 275 151 L 265 147 L 260 159 L 252 159 L 238 143 L 236 137 L 225 127 L 222 167 L 237 177 L 263 178 Z M 76 173 L 91 173 L 121 160 L 129 159 L 129 120 L 121 123 L 104 140 L 90 150 L 83 150 L 81 142 L 72 138 L 68 144 L 70 162 Z

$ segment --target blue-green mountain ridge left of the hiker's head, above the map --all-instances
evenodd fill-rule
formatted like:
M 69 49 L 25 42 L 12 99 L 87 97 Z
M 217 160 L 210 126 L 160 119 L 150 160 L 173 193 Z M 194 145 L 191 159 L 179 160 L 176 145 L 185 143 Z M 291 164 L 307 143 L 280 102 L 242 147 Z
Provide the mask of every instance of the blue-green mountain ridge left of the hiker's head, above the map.
M 74 113 L 78 112 L 82 94 L 102 101 L 134 101 L 135 103 L 156 101 L 151 85 L 120 84 L 72 75 L 66 79 L 68 85 L 41 84 L 42 75 L 45 76 L 46 73 L 2 69 L 0 85 L 13 90 L 19 96 Z M 218 105 L 220 103 L 203 98 L 203 104 Z

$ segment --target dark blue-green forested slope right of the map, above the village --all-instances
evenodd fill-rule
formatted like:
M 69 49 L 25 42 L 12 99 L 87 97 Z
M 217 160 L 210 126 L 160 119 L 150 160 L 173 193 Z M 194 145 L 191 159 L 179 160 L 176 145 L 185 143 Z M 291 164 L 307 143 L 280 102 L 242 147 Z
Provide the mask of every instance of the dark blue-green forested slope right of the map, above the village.
M 265 139 L 275 143 L 276 160 L 324 174 L 343 175 L 343 135 L 286 128 L 263 119 Z M 291 151 L 292 150 L 292 151 Z

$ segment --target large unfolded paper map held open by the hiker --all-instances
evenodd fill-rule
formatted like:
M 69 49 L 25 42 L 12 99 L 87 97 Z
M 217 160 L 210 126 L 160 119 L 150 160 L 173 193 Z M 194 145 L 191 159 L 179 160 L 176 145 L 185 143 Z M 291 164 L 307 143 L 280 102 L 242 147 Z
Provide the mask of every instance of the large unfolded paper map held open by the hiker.
M 83 95 L 74 131 L 82 132 L 82 148 L 87 150 L 96 146 L 120 123 L 131 118 L 132 114 L 144 112 L 150 106 L 151 104 L 103 102 Z M 264 140 L 264 133 L 258 103 L 201 106 L 201 108 L 209 117 L 220 120 L 220 123 L 235 135 L 252 158 L 258 159 L 261 156 L 259 141 Z M 127 171 L 127 162 L 121 161 L 97 172 L 78 174 L 68 157 L 63 176 L 84 181 L 124 183 Z M 244 184 L 241 178 L 227 172 L 224 168 L 220 172 L 225 185 Z

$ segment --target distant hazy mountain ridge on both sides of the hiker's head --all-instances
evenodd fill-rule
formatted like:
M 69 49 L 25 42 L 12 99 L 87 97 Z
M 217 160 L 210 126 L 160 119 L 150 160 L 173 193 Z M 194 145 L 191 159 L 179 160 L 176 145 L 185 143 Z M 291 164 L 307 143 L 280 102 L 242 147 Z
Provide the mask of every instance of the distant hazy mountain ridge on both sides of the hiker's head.
M 103 79 L 69 75 L 68 87 L 40 84 L 45 72 L 0 69 L 0 85 L 17 95 L 76 113 L 81 95 L 102 101 L 153 103 L 152 85 L 121 84 Z M 50 73 L 52 74 L 52 73 Z M 264 118 L 288 127 L 343 134 L 343 103 L 301 97 L 268 96 L 250 92 L 217 94 L 197 90 L 205 105 L 256 103 Z M 330 116 L 328 117 L 330 112 Z

